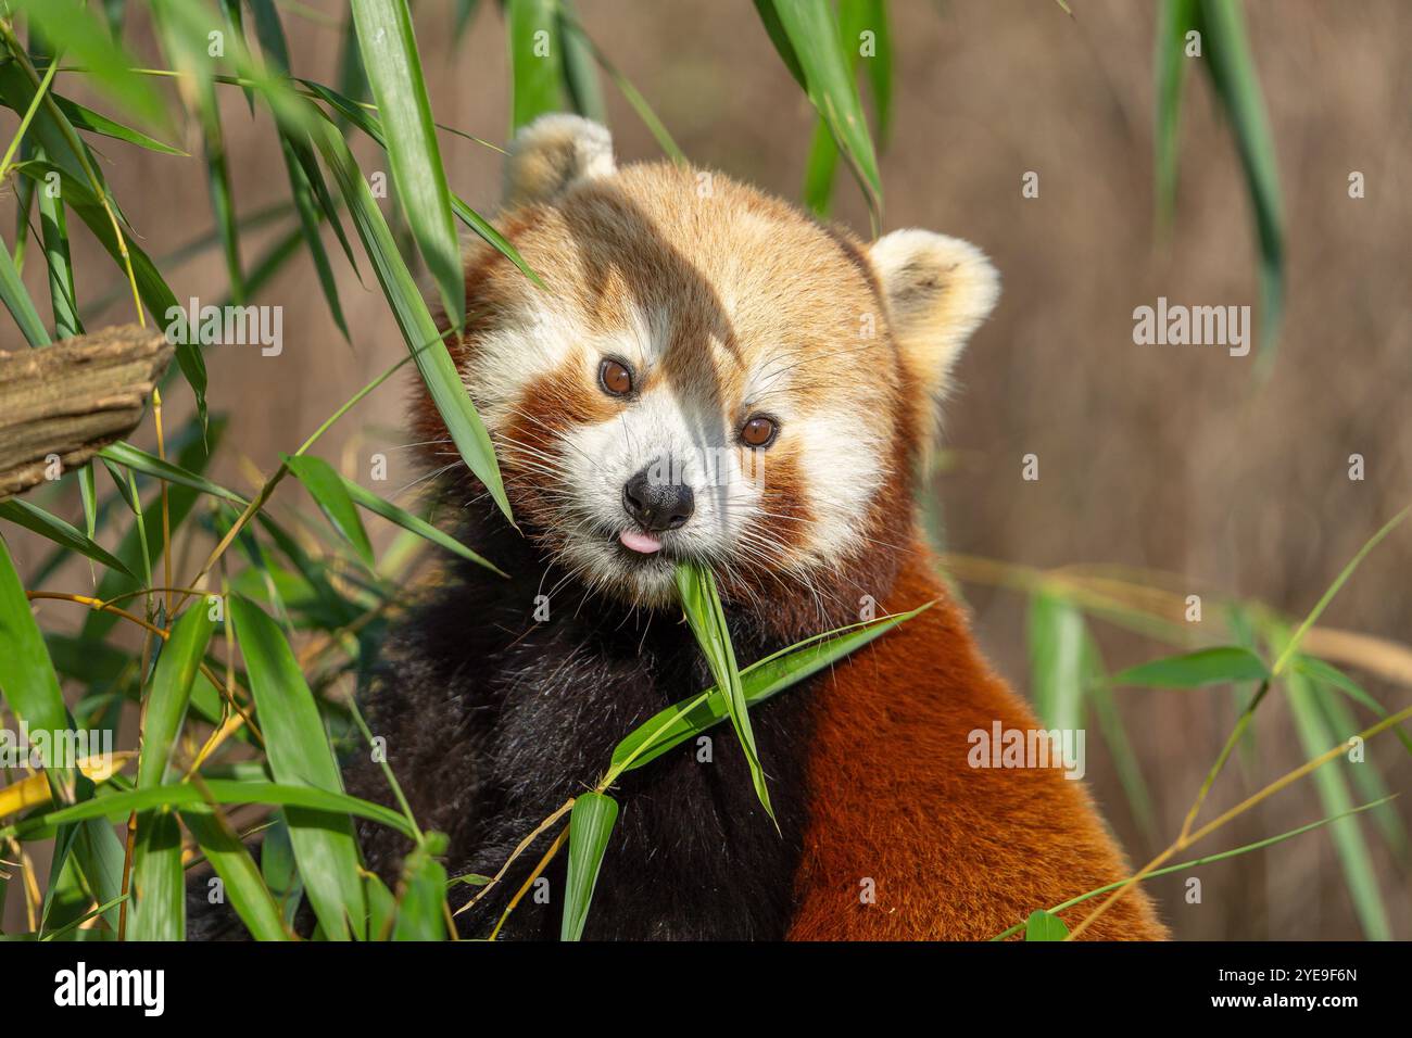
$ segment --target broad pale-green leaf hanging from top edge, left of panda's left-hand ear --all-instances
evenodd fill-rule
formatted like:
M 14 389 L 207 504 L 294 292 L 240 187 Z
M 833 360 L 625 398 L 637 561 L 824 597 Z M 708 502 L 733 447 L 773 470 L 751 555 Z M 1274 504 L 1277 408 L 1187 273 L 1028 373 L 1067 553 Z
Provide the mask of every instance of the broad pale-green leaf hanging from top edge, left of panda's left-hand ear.
M 353 0 L 363 68 L 387 133 L 393 185 L 411 223 L 426 268 L 441 290 L 452 328 L 466 323 L 466 280 L 450 215 L 426 83 L 422 80 L 412 16 L 405 0 Z

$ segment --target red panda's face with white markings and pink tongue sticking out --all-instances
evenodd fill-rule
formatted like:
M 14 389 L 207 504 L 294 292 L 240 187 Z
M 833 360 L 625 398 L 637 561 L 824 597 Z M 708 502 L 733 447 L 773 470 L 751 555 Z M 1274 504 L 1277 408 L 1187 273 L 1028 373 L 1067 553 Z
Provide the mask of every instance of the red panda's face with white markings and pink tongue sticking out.
M 827 586 L 909 521 L 940 387 L 894 328 L 936 271 L 904 250 L 892 297 L 888 257 L 791 206 L 719 174 L 617 171 L 585 140 L 600 127 L 563 126 L 511 157 L 504 229 L 545 287 L 481 250 L 453 347 L 517 520 L 635 604 L 675 600 L 681 559 L 729 597 Z

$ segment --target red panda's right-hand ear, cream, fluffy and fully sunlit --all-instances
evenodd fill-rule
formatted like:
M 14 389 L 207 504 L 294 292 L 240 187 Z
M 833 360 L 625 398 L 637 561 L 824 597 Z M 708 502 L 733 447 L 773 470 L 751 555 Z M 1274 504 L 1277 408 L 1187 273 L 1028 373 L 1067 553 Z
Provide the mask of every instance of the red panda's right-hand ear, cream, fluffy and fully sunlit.
M 976 246 L 929 230 L 884 234 L 868 257 L 887 297 L 892 335 L 935 401 L 935 419 L 952 364 L 995 308 L 1000 274 Z

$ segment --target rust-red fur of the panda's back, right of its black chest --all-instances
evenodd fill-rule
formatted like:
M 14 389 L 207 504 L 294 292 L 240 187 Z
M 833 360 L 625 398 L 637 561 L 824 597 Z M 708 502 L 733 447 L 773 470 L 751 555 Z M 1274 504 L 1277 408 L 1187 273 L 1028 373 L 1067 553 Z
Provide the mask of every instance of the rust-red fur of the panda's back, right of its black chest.
M 1082 782 L 1056 768 L 971 768 L 967 733 L 1038 729 L 981 660 L 962 612 L 915 545 L 887 607 L 936 606 L 880 638 L 818 691 L 813 799 L 795 890 L 796 941 L 981 941 L 1130 874 Z M 873 880 L 875 902 L 860 898 Z M 1062 912 L 1072 928 L 1103 898 Z M 1130 891 L 1084 931 L 1162 939 Z

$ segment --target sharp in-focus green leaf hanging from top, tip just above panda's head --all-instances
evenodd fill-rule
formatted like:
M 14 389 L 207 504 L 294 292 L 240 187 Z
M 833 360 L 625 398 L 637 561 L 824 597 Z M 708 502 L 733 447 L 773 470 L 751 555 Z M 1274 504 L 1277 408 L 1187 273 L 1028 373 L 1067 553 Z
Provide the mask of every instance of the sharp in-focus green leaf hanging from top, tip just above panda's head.
M 834 144 L 863 188 L 874 230 L 882 217 L 882 181 L 857 83 L 827 0 L 755 0 L 755 8 L 809 102 L 827 123 Z M 772 17 L 768 11 L 772 11 Z M 788 38 L 792 64 L 778 32 Z

